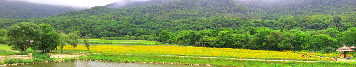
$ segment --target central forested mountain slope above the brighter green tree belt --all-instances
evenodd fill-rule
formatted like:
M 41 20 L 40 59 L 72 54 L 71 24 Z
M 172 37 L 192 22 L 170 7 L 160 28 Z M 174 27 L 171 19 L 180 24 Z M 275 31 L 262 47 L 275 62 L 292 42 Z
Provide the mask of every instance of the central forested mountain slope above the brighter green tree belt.
M 90 37 L 159 34 L 162 30 L 214 29 L 223 13 L 243 13 L 233 0 L 151 0 L 145 5 L 111 9 L 97 6 L 38 19 L 1 20 L 2 28 L 20 22 L 48 23 L 55 29 L 80 30 Z M 214 22 L 211 21 L 214 19 Z M 227 18 L 225 18 L 227 19 Z M 230 23 L 231 21 L 226 21 Z

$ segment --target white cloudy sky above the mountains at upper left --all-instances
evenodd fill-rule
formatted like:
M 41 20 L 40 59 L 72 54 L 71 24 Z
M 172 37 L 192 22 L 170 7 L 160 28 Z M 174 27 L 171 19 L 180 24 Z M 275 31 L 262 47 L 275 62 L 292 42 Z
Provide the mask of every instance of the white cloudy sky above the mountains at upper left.
M 67 6 L 75 8 L 90 8 L 95 6 L 105 6 L 111 4 L 112 2 L 117 2 L 120 0 L 13 0 L 13 1 L 26 1 L 37 4 L 47 4 L 47 5 L 57 5 L 57 6 Z M 142 0 L 147 1 L 147 0 Z

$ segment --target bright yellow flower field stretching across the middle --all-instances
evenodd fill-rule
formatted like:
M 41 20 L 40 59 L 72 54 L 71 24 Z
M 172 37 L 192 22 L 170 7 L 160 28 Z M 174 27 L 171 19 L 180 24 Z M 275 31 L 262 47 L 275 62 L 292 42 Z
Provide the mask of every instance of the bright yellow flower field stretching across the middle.
M 63 50 L 70 50 L 67 45 Z M 87 50 L 83 45 L 78 45 L 75 50 Z M 293 52 L 246 50 L 230 48 L 203 48 L 203 47 L 183 47 L 183 46 L 90 46 L 89 51 L 101 54 L 149 54 L 149 55 L 179 55 L 179 56 L 202 56 L 202 57 L 229 57 L 229 58 L 249 58 L 249 59 L 271 59 L 271 60 L 305 60 L 319 61 L 319 57 L 302 58 L 300 54 Z M 289 56 L 287 56 L 289 53 Z M 322 58 L 322 60 L 327 60 Z

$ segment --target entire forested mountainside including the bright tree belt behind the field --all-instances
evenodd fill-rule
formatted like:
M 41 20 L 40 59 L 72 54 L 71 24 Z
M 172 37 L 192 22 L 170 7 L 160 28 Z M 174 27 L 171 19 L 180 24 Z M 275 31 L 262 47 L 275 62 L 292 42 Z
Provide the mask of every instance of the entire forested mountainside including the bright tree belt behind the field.
M 257 50 L 319 51 L 356 44 L 354 1 L 235 1 L 150 0 L 111 7 L 113 3 L 46 18 L 0 19 L 0 28 L 47 23 L 90 38 L 208 42 L 213 47 Z

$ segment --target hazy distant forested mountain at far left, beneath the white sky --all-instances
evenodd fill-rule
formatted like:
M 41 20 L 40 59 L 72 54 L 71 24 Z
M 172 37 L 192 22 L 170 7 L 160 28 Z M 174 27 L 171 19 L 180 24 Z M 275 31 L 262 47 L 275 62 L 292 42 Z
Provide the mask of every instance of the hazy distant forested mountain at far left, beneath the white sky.
M 0 0 L 0 19 L 42 18 L 73 10 L 80 9 L 33 4 L 22 1 Z

